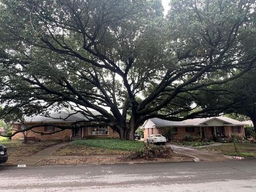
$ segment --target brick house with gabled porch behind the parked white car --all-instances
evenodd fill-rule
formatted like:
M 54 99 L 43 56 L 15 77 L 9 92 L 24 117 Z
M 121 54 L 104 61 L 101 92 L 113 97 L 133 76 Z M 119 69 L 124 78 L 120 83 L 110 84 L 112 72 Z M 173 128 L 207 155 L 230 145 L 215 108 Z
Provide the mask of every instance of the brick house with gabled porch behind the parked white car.
M 205 140 L 215 138 L 230 138 L 231 135 L 244 137 L 245 123 L 228 117 L 210 117 L 187 119 L 182 122 L 151 118 L 142 125 L 144 138 L 151 134 L 164 134 L 168 129 L 174 133 L 173 139 L 182 141 L 185 135 L 203 137 Z

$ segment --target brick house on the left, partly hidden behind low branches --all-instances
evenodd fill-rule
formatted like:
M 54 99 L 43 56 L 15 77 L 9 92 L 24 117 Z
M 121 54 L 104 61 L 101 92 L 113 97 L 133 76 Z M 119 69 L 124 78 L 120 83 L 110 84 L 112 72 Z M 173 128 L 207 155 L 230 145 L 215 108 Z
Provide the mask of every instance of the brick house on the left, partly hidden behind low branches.
M 92 111 L 92 113 L 97 113 Z M 95 115 L 95 114 L 94 114 Z M 78 138 L 119 138 L 119 134 L 111 129 L 110 126 L 107 126 L 103 122 L 86 122 L 91 120 L 90 117 L 86 117 L 80 113 L 71 114 L 68 111 L 59 111 L 58 113 L 52 113 L 49 117 L 45 116 L 33 116 L 25 117 L 24 123 L 14 123 L 13 131 L 25 129 L 29 126 L 37 126 L 29 131 L 27 131 L 27 137 L 35 137 L 37 140 L 69 140 L 69 139 L 78 139 Z M 71 124 L 77 123 L 74 129 L 66 129 L 60 132 L 60 129 L 55 126 L 69 126 Z M 54 126 L 55 125 L 55 126 Z M 52 134 L 45 134 L 51 133 Z M 12 140 L 23 139 L 23 133 L 15 134 L 12 137 Z

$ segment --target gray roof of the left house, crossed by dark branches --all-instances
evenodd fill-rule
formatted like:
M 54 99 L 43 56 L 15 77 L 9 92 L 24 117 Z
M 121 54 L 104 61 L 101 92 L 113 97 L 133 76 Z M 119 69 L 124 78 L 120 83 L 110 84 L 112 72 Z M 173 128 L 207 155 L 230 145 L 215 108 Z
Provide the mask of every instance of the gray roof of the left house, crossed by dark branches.
M 98 111 L 91 111 L 93 115 L 100 115 Z M 88 121 L 92 117 L 84 116 L 81 113 L 75 113 L 74 111 L 59 111 L 57 113 L 51 113 L 45 117 L 42 115 L 35 115 L 31 117 L 25 117 L 25 122 L 77 122 Z

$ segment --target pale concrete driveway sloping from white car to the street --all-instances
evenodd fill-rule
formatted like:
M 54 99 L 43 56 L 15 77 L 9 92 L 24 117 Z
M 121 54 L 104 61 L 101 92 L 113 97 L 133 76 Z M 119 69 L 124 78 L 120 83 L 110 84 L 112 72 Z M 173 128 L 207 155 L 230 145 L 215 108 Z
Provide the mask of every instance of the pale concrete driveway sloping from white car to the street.
M 204 161 L 204 162 L 228 161 L 232 159 L 232 157 L 230 156 L 226 156 L 226 155 L 222 155 L 219 153 L 206 151 L 206 150 L 198 150 L 190 147 L 173 145 L 170 143 L 166 143 L 166 146 L 171 147 L 176 153 L 188 155 L 193 158 L 198 158 L 200 159 L 200 161 Z

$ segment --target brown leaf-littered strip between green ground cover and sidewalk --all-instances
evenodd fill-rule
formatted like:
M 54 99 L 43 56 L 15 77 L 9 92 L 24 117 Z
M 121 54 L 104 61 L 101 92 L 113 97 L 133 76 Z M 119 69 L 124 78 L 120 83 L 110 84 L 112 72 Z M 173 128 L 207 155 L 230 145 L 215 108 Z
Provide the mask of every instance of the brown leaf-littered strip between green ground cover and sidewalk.
M 82 145 L 67 145 L 55 151 L 52 156 L 86 156 L 86 155 L 128 155 L 130 152 Z

